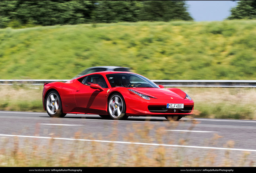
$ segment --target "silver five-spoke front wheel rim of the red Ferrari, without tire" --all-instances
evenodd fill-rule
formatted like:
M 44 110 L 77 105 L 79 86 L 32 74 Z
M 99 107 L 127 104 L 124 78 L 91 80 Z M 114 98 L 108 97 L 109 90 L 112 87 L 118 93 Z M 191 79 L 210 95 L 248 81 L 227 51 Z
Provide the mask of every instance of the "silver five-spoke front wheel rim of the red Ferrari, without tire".
M 113 95 L 108 103 L 109 114 L 113 118 L 119 118 L 122 115 L 124 103 L 119 95 Z

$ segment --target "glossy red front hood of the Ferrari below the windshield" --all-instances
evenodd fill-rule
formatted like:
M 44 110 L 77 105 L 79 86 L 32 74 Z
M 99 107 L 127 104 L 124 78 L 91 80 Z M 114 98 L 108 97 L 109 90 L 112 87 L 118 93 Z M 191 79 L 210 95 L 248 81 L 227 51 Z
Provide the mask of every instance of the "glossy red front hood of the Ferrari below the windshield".
M 131 88 L 143 95 L 150 97 L 155 97 L 157 99 L 184 99 L 186 93 L 180 89 L 170 88 L 170 89 L 160 89 L 160 88 Z

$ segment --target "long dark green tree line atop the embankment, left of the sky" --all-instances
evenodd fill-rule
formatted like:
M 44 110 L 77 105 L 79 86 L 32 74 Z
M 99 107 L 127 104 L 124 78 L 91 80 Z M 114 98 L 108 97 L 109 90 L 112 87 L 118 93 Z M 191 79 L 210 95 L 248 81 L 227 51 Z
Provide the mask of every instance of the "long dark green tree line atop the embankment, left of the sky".
M 193 20 L 185 1 L 165 0 L 8 0 L 0 1 L 0 28 Z

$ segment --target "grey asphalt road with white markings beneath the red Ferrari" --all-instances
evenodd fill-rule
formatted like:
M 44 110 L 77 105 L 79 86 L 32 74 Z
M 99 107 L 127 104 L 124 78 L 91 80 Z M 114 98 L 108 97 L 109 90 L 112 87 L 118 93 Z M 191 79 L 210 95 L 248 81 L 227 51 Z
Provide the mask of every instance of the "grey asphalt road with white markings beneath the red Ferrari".
M 67 114 L 64 118 L 51 118 L 47 113 L 0 111 L 0 147 L 4 139 L 14 137 L 20 139 L 19 145 L 32 139 L 47 145 L 47 140 L 54 138 L 66 144 L 74 140 L 115 143 L 122 150 L 129 145 L 166 147 L 182 151 L 179 154 L 184 157 L 202 160 L 214 153 L 217 161 L 213 166 L 223 166 L 227 153 L 237 166 L 255 166 L 255 132 L 255 120 L 184 117 L 169 122 L 164 117 L 129 117 L 126 121 L 114 121 L 98 115 Z M 242 164 L 244 153 L 249 155 Z

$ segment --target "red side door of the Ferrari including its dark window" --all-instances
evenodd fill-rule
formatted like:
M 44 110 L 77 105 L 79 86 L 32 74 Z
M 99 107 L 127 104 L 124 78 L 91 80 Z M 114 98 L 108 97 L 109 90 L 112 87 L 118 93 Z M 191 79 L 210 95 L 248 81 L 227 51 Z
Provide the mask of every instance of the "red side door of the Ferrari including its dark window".
M 100 81 L 101 80 L 101 81 Z M 103 91 L 92 89 L 91 84 L 99 84 Z M 74 94 L 78 110 L 83 113 L 107 113 L 107 83 L 100 74 L 85 77 Z

